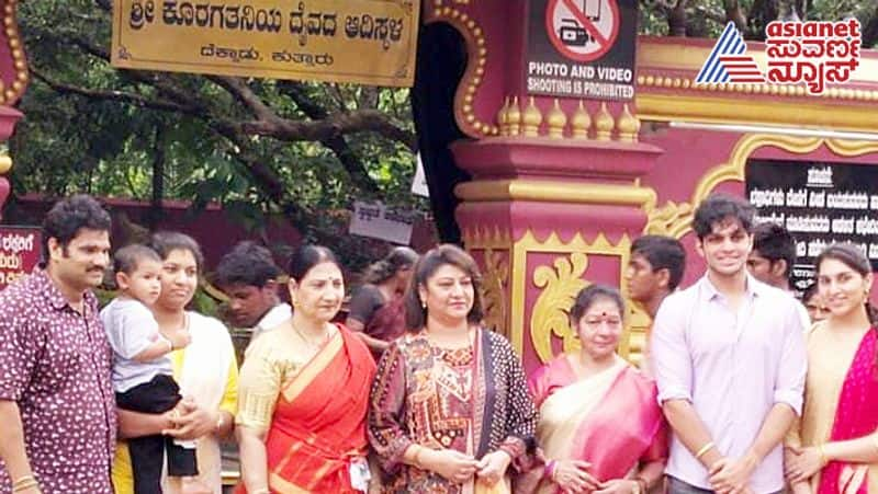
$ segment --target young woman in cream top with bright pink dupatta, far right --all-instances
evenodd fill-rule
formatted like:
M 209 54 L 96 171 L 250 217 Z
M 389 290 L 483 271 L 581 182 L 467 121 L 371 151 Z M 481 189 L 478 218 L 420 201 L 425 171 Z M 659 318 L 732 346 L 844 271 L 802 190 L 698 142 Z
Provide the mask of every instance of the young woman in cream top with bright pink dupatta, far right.
M 868 306 L 869 260 L 852 244 L 817 259 L 830 317 L 808 335 L 808 378 L 799 427 L 787 441 L 786 472 L 796 494 L 878 493 L 878 374 Z

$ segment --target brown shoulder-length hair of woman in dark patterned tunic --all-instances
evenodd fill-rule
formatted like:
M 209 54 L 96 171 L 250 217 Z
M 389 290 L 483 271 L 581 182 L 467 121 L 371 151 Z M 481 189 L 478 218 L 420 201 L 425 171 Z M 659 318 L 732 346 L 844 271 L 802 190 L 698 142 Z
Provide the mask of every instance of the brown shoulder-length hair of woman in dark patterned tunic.
M 482 322 L 482 296 L 479 289 L 482 275 L 479 273 L 479 265 L 463 249 L 444 243 L 430 249 L 415 264 L 415 272 L 412 274 L 412 282 L 405 295 L 405 326 L 408 331 L 418 332 L 427 324 L 427 309 L 421 306 L 418 288 L 426 287 L 427 280 L 444 265 L 460 268 L 472 279 L 473 308 L 466 314 L 466 321 Z

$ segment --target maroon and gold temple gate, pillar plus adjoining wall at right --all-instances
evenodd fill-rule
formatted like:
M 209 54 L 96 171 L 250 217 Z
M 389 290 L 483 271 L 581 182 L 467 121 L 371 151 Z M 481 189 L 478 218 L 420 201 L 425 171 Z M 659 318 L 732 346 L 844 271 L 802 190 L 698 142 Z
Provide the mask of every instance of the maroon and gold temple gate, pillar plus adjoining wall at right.
M 576 347 L 567 310 L 579 289 L 624 291 L 638 235 L 680 239 L 683 286 L 697 279 L 693 210 L 713 191 L 743 195 L 748 161 L 878 164 L 875 51 L 862 51 L 852 81 L 815 96 L 803 85 L 696 85 L 714 39 L 640 36 L 633 104 L 534 96 L 528 4 L 428 2 L 415 90 L 440 231 L 480 261 L 487 323 L 528 368 Z M 763 44 L 747 48 L 764 60 Z M 443 223 L 452 210 L 455 223 Z M 650 320 L 629 306 L 620 353 L 637 360 Z

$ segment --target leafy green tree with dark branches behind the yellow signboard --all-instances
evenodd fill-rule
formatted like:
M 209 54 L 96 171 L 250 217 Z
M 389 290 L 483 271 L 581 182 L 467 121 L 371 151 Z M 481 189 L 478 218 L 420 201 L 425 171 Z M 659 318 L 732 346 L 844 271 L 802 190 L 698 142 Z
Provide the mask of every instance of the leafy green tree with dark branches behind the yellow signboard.
M 116 70 L 111 10 L 20 3 L 33 81 L 10 142 L 14 191 L 219 202 L 255 234 L 282 215 L 352 267 L 374 242 L 346 238 L 345 215 L 327 211 L 354 199 L 426 210 L 409 193 L 407 90 Z

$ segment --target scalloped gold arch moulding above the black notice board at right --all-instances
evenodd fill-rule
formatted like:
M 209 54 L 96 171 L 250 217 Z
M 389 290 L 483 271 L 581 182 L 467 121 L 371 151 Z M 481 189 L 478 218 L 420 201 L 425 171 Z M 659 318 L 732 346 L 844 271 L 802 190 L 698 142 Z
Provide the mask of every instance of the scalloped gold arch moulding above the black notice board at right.
M 721 183 L 743 182 L 747 159 L 759 148 L 772 146 L 795 154 L 808 154 L 821 146 L 840 157 L 856 157 L 878 152 L 878 142 L 851 139 L 826 139 L 822 137 L 797 137 L 777 134 L 746 134 L 732 150 L 729 160 L 709 169 L 693 192 L 687 203 L 667 202 L 664 206 L 648 208 L 648 233 L 668 234 L 677 239 L 691 230 L 693 212 L 701 202 Z

